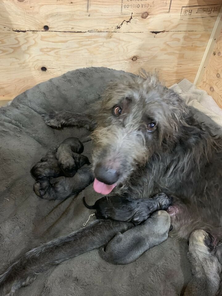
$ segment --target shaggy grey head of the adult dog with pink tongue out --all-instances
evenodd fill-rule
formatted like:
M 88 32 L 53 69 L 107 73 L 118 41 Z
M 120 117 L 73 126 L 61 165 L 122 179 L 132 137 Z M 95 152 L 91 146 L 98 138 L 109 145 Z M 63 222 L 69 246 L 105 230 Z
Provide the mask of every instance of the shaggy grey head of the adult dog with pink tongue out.
M 95 191 L 108 194 L 154 152 L 173 142 L 185 113 L 180 97 L 155 77 L 112 84 L 104 93 L 92 134 Z

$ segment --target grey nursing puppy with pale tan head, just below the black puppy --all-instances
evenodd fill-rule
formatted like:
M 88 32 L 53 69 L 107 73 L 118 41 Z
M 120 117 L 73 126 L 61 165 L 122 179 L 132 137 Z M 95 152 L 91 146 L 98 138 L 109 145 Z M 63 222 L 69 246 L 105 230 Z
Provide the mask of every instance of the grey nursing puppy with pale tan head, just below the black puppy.
M 171 225 L 166 211 L 155 212 L 141 225 L 118 233 L 99 254 L 113 264 L 128 264 L 138 259 L 148 249 L 159 245 L 168 237 Z

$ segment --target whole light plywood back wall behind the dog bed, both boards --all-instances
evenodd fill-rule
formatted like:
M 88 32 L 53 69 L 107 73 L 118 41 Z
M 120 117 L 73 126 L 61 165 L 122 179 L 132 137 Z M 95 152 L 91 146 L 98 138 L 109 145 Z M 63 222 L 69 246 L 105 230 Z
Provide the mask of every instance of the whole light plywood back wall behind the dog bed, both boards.
M 1 0 L 0 100 L 72 69 L 193 81 L 221 0 Z M 45 71 L 43 71 L 45 70 Z

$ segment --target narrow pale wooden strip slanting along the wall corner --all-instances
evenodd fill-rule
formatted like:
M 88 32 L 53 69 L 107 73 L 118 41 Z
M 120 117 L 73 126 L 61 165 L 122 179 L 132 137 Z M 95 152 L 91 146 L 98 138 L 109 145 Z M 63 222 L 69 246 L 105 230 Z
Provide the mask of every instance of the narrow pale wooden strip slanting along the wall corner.
M 213 27 L 211 36 L 209 38 L 207 47 L 206 47 L 206 49 L 204 51 L 203 58 L 201 60 L 199 69 L 197 71 L 197 74 L 196 74 L 196 77 L 195 77 L 195 80 L 194 80 L 194 84 L 196 86 L 199 86 L 200 83 L 201 83 L 201 80 L 203 78 L 205 69 L 206 69 L 206 67 L 207 67 L 207 65 L 209 63 L 210 57 L 211 57 L 212 52 L 213 52 L 213 48 L 214 48 L 214 46 L 216 44 L 216 40 L 217 40 L 217 38 L 218 38 L 218 36 L 220 34 L 221 29 L 222 29 L 222 6 L 220 8 L 220 12 L 219 12 L 219 14 L 217 16 L 215 25 Z

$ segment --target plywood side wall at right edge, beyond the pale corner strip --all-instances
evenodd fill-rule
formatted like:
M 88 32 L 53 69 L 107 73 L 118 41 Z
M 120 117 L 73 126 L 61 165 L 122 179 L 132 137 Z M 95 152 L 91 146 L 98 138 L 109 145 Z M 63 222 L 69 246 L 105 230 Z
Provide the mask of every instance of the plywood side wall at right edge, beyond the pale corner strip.
M 222 108 L 222 31 L 212 51 L 209 64 L 199 87 L 214 98 Z

